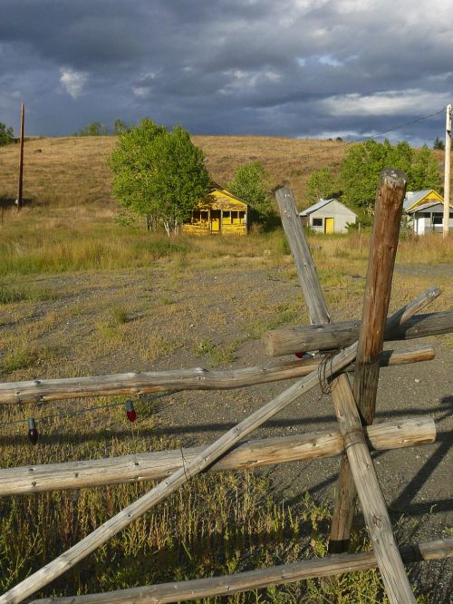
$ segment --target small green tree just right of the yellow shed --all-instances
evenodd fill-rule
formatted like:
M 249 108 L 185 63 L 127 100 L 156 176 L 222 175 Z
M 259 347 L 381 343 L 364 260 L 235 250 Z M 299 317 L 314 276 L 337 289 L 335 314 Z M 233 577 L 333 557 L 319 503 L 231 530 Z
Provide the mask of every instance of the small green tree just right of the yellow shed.
M 260 161 L 239 166 L 226 188 L 255 209 L 258 218 L 266 222 L 274 213 L 270 194 L 270 176 Z

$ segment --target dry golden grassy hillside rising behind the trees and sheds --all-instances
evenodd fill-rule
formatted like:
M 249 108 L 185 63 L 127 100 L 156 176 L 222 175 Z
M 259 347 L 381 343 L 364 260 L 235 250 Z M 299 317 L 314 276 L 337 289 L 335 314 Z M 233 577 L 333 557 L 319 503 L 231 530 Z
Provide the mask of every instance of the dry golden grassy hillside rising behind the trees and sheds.
M 108 160 L 116 137 L 31 139 L 24 144 L 24 198 L 39 204 L 73 206 L 95 202 L 111 205 Z M 275 185 L 294 189 L 301 207 L 311 171 L 337 171 L 347 146 L 313 141 L 256 136 L 194 136 L 205 152 L 207 169 L 225 184 L 237 166 L 261 161 Z M 17 188 L 18 147 L 0 149 L 0 198 L 14 200 Z M 116 205 L 116 204 L 115 204 Z

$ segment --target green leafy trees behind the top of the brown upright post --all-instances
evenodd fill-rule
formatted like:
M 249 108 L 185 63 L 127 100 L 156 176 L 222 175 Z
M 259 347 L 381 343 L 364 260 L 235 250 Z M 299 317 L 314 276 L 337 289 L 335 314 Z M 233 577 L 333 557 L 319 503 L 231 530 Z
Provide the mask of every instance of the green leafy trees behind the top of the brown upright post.
M 376 185 L 385 168 L 403 170 L 408 176 L 408 190 L 439 187 L 437 161 L 427 145 L 417 150 L 406 141 L 391 145 L 387 140 L 370 139 L 353 145 L 342 161 L 342 200 L 358 209 L 373 208 Z

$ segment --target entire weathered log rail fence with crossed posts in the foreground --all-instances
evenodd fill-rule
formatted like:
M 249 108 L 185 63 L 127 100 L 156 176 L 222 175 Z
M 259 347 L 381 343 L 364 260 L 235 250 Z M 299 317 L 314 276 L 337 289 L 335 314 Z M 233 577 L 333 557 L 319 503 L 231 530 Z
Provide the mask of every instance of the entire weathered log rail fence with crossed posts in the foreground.
M 238 388 L 300 378 L 216 442 L 207 447 L 186 449 L 183 455 L 180 451 L 165 451 L 0 470 L 0 495 L 162 479 L 157 486 L 82 541 L 0 596 L 0 604 L 13 604 L 27 599 L 199 472 L 254 468 L 328 455 L 342 456 L 330 536 L 330 552 L 341 555 L 223 577 L 85 596 L 38 599 L 34 602 L 144 604 L 187 601 L 373 567 L 381 571 L 390 602 L 415 602 L 403 563 L 451 557 L 453 540 L 417 543 L 399 549 L 370 450 L 432 443 L 436 438 L 436 427 L 431 419 L 419 417 L 376 425 L 372 422 L 381 367 L 429 361 L 435 356 L 432 346 L 384 352 L 384 340 L 406 340 L 451 332 L 453 313 L 418 314 L 439 297 L 439 288 L 432 287 L 387 318 L 405 189 L 406 177 L 402 172 L 383 170 L 377 191 L 362 320 L 342 323 L 331 322 L 292 191 L 277 191 L 284 230 L 311 325 L 269 332 L 264 336 L 265 348 L 272 356 L 301 350 L 313 351 L 316 353 L 313 359 L 276 362 L 270 367 L 255 366 L 232 371 L 207 371 L 196 367 L 182 371 L 99 375 L 0 385 L 0 404 L 23 404 L 83 396 Z M 347 372 L 354 374 L 352 386 Z M 258 426 L 320 383 L 323 391 L 332 395 L 338 421 L 336 430 L 244 442 L 246 436 Z M 357 497 L 373 550 L 350 554 L 346 552 Z

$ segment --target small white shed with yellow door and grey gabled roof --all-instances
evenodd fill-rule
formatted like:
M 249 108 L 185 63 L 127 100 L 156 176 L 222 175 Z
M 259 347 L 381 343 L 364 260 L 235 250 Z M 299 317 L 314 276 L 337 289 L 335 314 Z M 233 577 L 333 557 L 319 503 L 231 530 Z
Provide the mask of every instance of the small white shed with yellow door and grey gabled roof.
M 354 224 L 357 214 L 338 200 L 319 200 L 299 212 L 304 224 L 318 233 L 346 233 L 348 224 Z

